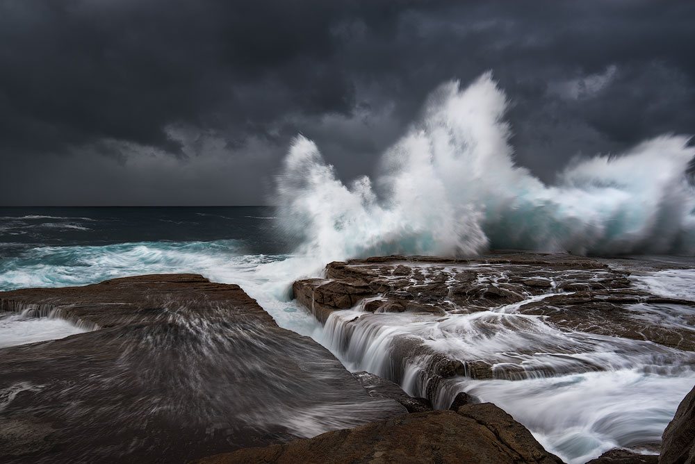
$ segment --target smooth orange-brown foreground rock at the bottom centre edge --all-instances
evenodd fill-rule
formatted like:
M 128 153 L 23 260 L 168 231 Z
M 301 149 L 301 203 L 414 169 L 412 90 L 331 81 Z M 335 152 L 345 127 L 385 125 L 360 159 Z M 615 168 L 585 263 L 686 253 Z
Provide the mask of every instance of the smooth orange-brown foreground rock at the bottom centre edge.
M 199 463 L 562 463 L 493 404 L 395 417 Z

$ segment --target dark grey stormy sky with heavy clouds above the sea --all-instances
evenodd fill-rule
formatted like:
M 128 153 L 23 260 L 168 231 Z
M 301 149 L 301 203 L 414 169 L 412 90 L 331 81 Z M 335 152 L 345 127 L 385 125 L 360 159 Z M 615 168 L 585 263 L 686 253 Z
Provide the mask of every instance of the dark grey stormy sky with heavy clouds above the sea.
M 491 70 L 516 160 L 695 133 L 690 1 L 0 0 L 0 204 L 267 204 L 297 133 L 338 174 Z

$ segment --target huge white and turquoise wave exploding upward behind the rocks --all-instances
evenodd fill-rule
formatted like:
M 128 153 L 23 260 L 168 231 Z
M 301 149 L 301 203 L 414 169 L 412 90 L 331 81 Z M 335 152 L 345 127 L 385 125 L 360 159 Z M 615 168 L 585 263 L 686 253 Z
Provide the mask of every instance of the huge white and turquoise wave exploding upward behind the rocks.
M 488 248 L 694 254 L 695 149 L 664 135 L 577 160 L 546 185 L 514 163 L 507 98 L 491 73 L 442 85 L 382 156 L 384 174 L 343 184 L 298 136 L 277 179 L 285 228 L 318 261 Z M 378 194 L 377 194 L 378 192 Z

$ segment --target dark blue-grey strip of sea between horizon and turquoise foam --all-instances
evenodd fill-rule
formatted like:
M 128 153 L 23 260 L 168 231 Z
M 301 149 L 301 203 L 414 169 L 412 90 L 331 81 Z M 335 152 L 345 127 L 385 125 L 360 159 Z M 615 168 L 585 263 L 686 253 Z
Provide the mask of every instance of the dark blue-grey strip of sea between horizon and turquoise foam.
M 0 257 L 44 246 L 240 240 L 256 254 L 288 251 L 266 206 L 0 208 Z

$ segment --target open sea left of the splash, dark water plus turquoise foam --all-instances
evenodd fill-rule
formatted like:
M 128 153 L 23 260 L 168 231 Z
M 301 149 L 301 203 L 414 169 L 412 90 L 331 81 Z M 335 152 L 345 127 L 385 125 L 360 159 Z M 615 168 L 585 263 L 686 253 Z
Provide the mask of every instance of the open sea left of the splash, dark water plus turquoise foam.
M 0 208 L 0 290 L 154 272 L 226 281 L 229 270 L 292 248 L 274 208 L 263 206 Z

